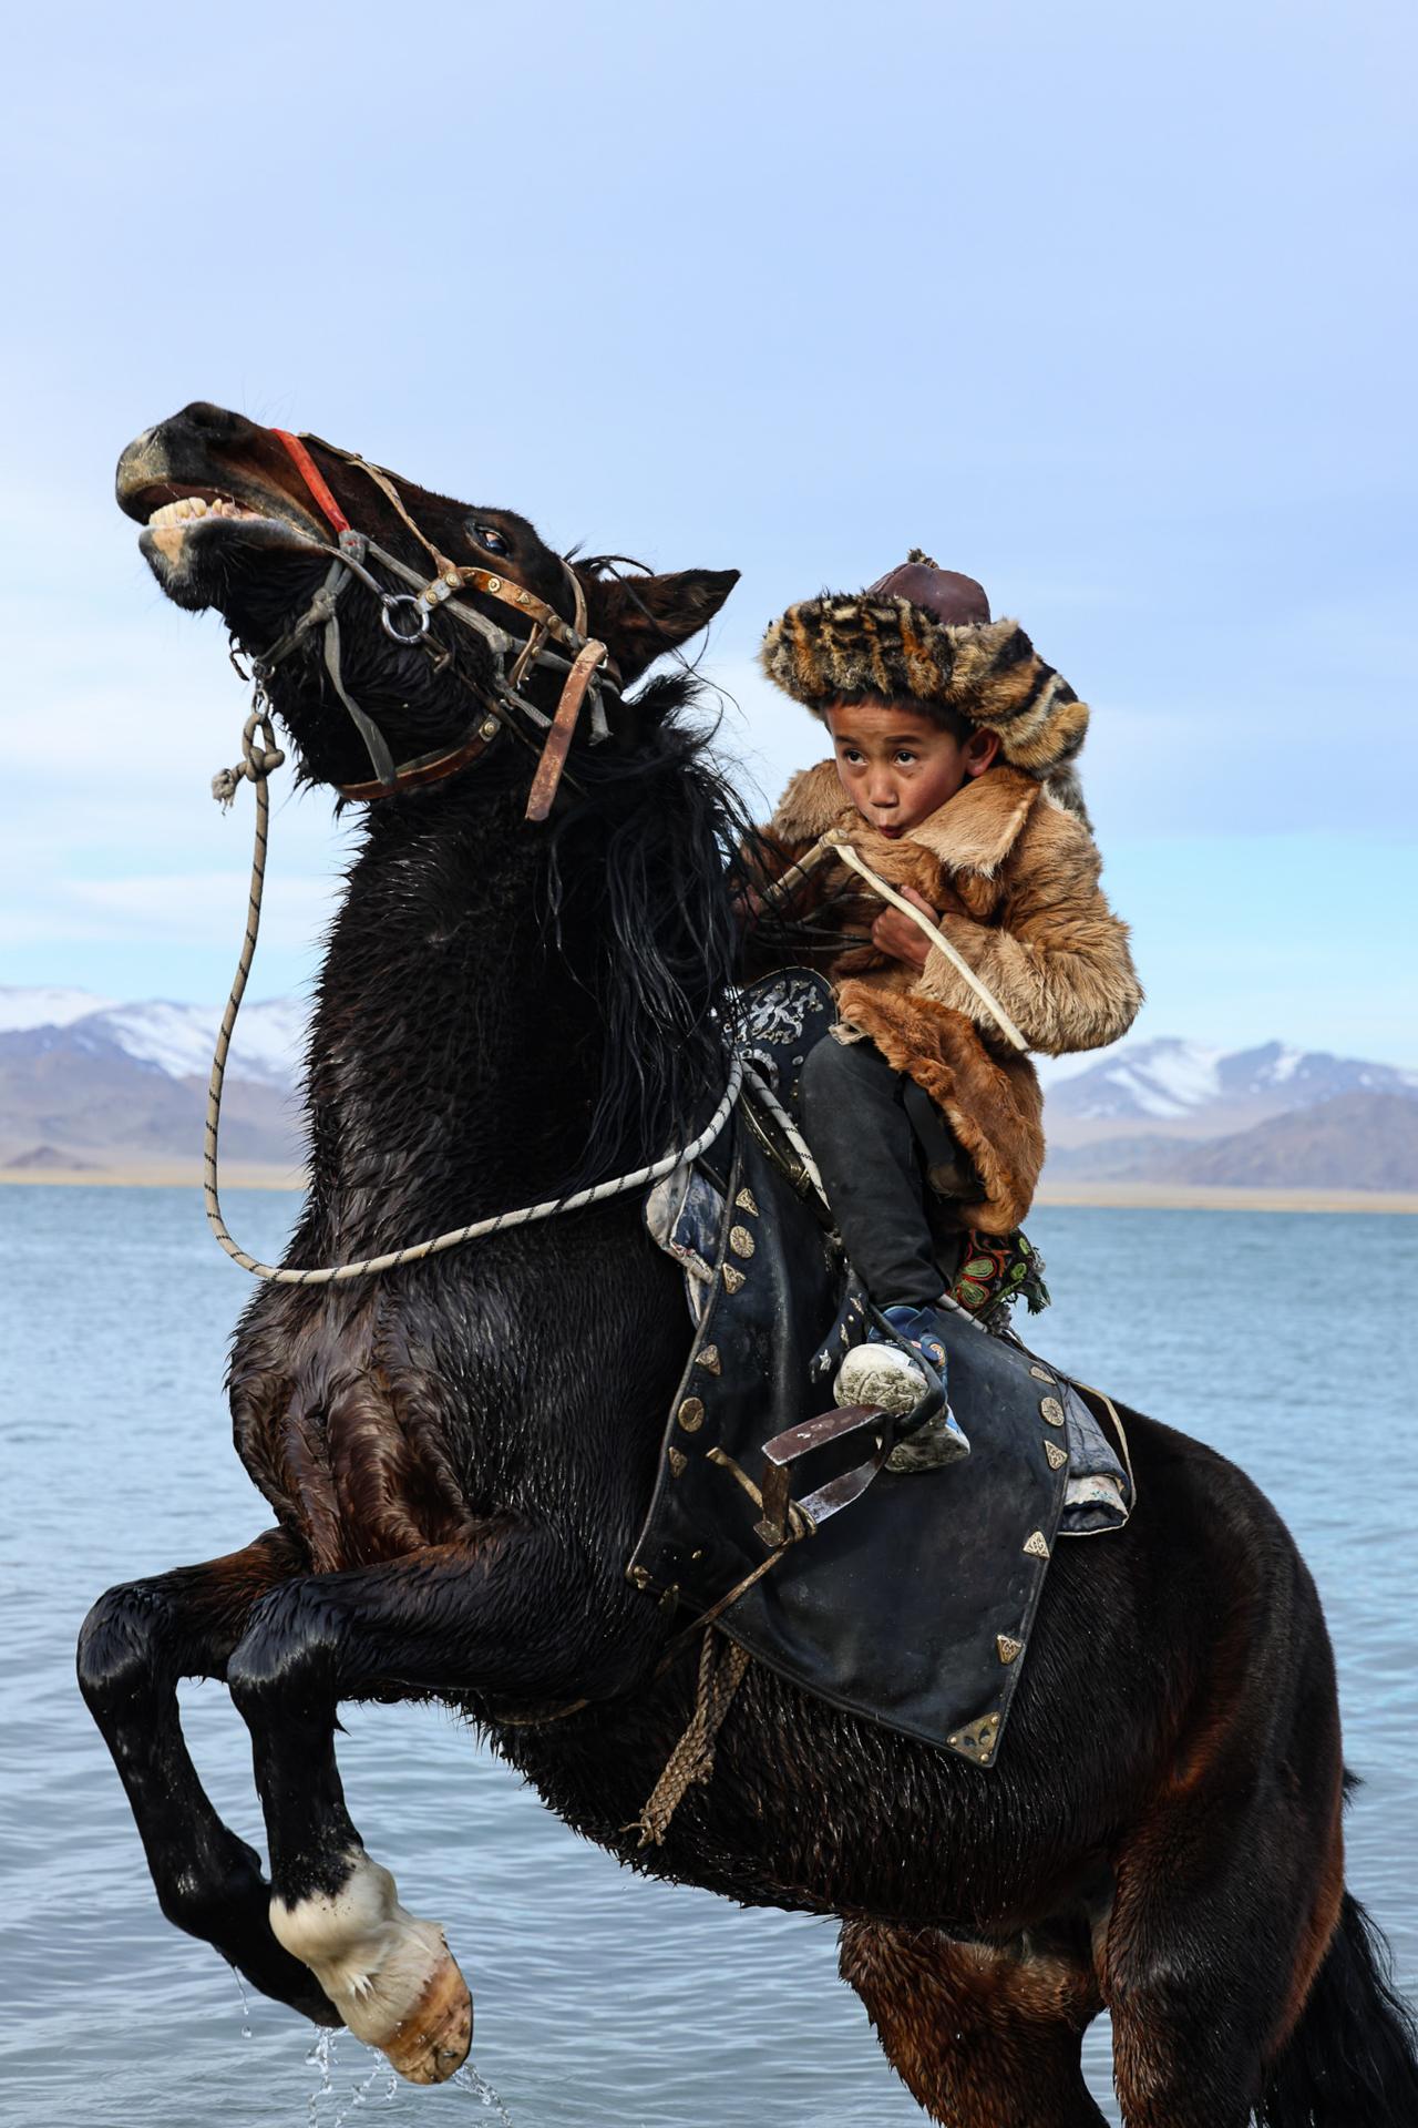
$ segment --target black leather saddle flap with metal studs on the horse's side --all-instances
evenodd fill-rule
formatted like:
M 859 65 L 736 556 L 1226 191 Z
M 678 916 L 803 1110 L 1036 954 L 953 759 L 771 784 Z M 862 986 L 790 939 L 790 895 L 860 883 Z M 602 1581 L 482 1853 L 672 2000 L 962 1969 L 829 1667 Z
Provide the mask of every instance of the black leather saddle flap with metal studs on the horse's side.
M 678 1626 L 770 1556 L 763 1443 L 829 1404 L 808 1364 L 833 1324 L 842 1266 L 757 1134 L 733 1136 L 714 1279 L 627 1566 Z M 721 1145 L 721 1173 L 725 1156 Z M 853 1507 L 793 1543 L 721 1628 L 821 1698 L 989 1766 L 1059 1528 L 1063 1404 L 1044 1362 L 974 1319 L 950 1317 L 946 1343 L 969 1458 L 882 1470 Z M 795 1498 L 870 1447 L 857 1432 L 806 1458 Z

